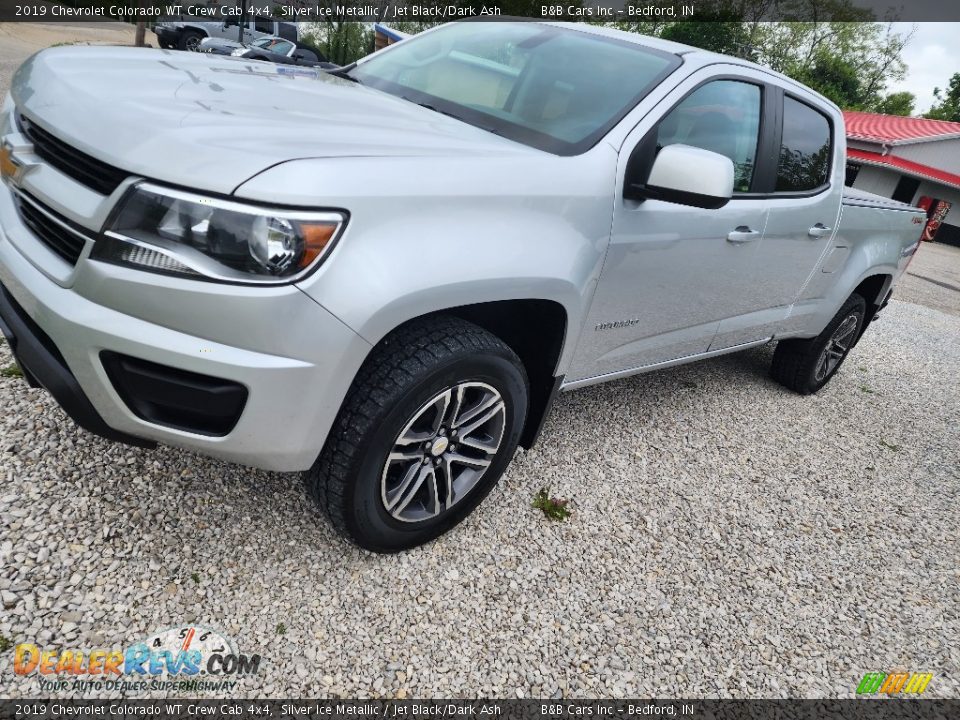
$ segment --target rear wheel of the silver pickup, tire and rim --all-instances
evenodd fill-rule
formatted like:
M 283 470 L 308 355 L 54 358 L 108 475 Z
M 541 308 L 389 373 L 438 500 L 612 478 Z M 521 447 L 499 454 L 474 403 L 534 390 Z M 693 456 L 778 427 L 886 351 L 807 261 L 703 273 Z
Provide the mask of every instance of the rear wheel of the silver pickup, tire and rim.
M 853 294 L 817 337 L 781 340 L 773 354 L 770 376 L 801 395 L 817 392 L 856 344 L 866 312 L 866 301 Z

